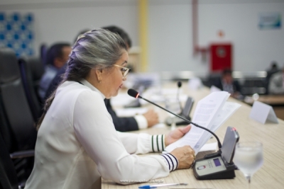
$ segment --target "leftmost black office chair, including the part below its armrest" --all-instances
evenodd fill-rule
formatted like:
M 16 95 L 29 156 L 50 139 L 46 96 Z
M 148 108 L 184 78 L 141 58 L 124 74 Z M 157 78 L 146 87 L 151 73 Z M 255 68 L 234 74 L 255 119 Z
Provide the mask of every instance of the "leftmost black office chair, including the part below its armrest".
M 0 131 L 9 153 L 34 150 L 37 132 L 28 106 L 15 52 L 0 48 Z M 15 159 L 18 181 L 28 178 L 33 158 Z

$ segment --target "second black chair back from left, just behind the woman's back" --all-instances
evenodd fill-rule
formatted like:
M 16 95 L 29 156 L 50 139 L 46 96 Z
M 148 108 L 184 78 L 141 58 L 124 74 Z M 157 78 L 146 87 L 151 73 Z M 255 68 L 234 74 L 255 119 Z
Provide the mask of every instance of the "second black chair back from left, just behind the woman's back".
M 45 71 L 44 65 L 38 57 L 21 57 L 18 64 L 28 105 L 31 108 L 33 120 L 36 122 L 43 113 L 43 102 L 38 95 L 38 87 Z

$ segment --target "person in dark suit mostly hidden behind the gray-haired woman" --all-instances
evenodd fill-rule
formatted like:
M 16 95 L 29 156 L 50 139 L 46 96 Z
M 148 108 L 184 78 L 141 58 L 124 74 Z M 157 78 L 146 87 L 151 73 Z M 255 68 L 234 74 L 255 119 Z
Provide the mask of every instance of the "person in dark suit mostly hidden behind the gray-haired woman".
M 112 33 L 117 33 L 121 36 L 121 38 L 126 43 L 126 46 L 129 50 L 131 47 L 131 39 L 129 38 L 129 35 L 122 30 L 121 28 L 110 25 L 107 27 L 103 27 L 105 30 L 109 30 Z M 83 30 L 83 33 L 85 33 L 86 30 Z M 81 34 L 81 33 L 80 33 Z M 79 35 L 80 36 L 80 35 Z M 53 81 L 51 82 L 48 91 L 46 92 L 45 99 L 48 99 L 48 97 L 55 91 L 55 88 L 57 88 L 58 84 L 60 84 L 60 81 L 62 81 L 62 74 L 65 73 L 66 65 L 62 67 Z M 156 125 L 158 123 L 158 114 L 155 113 L 154 110 L 148 110 L 148 112 L 144 113 L 143 115 L 135 115 L 133 117 L 118 117 L 114 111 L 114 109 L 111 106 L 111 99 L 104 99 L 104 103 L 107 106 L 107 110 L 109 114 L 111 115 L 111 118 L 114 122 L 114 127 L 117 131 L 120 132 L 126 132 L 126 131 L 133 131 L 133 130 L 141 130 L 148 127 L 152 127 L 153 125 Z

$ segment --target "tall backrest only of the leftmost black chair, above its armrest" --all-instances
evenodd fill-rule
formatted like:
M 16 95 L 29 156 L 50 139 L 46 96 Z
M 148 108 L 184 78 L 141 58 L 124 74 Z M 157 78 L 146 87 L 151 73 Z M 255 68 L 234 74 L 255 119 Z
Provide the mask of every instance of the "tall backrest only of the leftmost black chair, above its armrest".
M 16 150 L 34 149 L 36 130 L 15 52 L 0 48 L 0 101 Z M 12 152 L 12 151 L 9 151 Z

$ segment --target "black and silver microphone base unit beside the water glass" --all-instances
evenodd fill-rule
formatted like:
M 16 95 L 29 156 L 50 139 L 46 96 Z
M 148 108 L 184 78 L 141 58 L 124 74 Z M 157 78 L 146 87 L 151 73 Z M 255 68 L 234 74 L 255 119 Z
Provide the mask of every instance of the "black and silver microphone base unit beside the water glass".
M 193 172 L 198 180 L 224 179 L 235 177 L 235 165 L 233 162 L 236 142 L 239 141 L 239 133 L 234 127 L 227 127 L 222 150 L 213 154 L 207 154 L 202 159 L 195 161 Z

